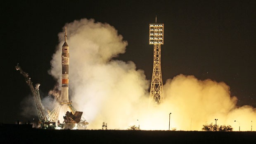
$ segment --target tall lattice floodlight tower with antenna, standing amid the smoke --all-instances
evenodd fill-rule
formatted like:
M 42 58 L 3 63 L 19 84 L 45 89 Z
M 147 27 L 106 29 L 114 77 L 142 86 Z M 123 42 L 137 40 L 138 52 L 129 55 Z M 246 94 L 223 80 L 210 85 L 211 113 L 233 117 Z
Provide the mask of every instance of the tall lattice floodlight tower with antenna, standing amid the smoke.
M 154 44 L 154 65 L 149 102 L 160 104 L 164 98 L 161 73 L 161 44 L 164 44 L 164 24 L 149 24 L 149 44 Z

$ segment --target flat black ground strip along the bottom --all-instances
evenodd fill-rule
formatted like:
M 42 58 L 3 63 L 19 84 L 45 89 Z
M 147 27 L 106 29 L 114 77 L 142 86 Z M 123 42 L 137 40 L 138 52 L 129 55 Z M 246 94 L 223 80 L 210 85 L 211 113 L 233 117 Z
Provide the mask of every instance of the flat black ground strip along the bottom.
M 44 130 L 0 127 L 1 144 L 256 144 L 256 132 L 167 130 Z

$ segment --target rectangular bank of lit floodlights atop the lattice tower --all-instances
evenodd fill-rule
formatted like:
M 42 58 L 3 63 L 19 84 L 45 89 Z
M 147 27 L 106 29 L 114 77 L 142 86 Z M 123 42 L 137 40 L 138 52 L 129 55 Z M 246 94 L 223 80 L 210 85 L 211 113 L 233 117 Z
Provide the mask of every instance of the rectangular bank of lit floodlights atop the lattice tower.
M 149 44 L 164 44 L 164 24 L 149 24 Z

